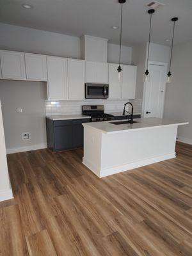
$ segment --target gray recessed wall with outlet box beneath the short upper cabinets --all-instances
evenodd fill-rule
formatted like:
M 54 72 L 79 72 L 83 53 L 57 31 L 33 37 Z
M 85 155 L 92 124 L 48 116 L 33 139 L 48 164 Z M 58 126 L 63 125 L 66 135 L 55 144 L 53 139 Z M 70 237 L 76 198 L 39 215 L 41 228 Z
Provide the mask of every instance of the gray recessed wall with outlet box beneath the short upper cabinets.
M 45 87 L 42 82 L 0 80 L 7 150 L 46 145 Z M 18 112 L 18 108 L 22 108 L 22 113 Z M 22 132 L 30 132 L 31 140 L 22 140 Z

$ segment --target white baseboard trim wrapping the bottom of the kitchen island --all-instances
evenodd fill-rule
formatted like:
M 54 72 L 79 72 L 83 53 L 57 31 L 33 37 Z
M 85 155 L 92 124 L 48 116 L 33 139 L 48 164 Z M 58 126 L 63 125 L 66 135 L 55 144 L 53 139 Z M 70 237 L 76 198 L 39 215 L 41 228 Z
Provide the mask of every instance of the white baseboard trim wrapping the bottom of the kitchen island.
M 93 173 L 95 173 L 95 175 L 97 175 L 99 178 L 102 177 L 106 177 L 115 173 L 120 173 L 120 172 L 125 172 L 125 171 L 129 171 L 135 168 L 139 168 L 141 166 L 145 166 L 148 164 L 154 164 L 154 163 L 158 163 L 164 160 L 168 160 L 168 159 L 172 159 L 175 158 L 175 152 L 170 153 L 170 154 L 166 154 L 163 156 L 157 156 L 157 157 L 152 157 L 149 159 L 143 159 L 141 161 L 136 161 L 134 163 L 127 163 L 127 164 L 122 164 L 120 166 L 115 166 L 112 168 L 106 168 L 106 169 L 102 169 L 102 170 L 98 170 L 98 168 L 94 168 L 93 164 L 90 163 L 87 159 L 83 158 L 83 164 L 88 167 Z

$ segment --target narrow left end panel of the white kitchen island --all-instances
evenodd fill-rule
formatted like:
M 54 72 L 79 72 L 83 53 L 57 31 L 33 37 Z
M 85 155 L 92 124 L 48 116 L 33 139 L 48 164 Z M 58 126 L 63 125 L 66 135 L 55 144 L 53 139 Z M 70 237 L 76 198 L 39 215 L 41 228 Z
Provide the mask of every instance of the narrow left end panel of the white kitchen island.
M 93 173 L 100 177 L 100 156 L 101 156 L 101 138 L 102 133 L 89 127 L 84 126 L 84 156 L 83 164 Z

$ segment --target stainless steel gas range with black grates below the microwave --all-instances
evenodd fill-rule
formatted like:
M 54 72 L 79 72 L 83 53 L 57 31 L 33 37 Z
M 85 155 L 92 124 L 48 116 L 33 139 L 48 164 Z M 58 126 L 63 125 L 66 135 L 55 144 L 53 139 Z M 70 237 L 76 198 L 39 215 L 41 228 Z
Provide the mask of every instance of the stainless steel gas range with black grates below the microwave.
M 91 116 L 92 122 L 115 120 L 113 115 L 104 113 L 104 105 L 83 105 L 82 114 Z

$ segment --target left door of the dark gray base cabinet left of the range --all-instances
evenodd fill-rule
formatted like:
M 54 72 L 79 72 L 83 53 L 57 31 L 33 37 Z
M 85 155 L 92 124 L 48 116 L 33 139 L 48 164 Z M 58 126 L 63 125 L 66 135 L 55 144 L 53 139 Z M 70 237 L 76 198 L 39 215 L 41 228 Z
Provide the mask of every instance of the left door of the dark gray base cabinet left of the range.
M 54 127 L 54 150 L 72 148 L 72 126 Z

